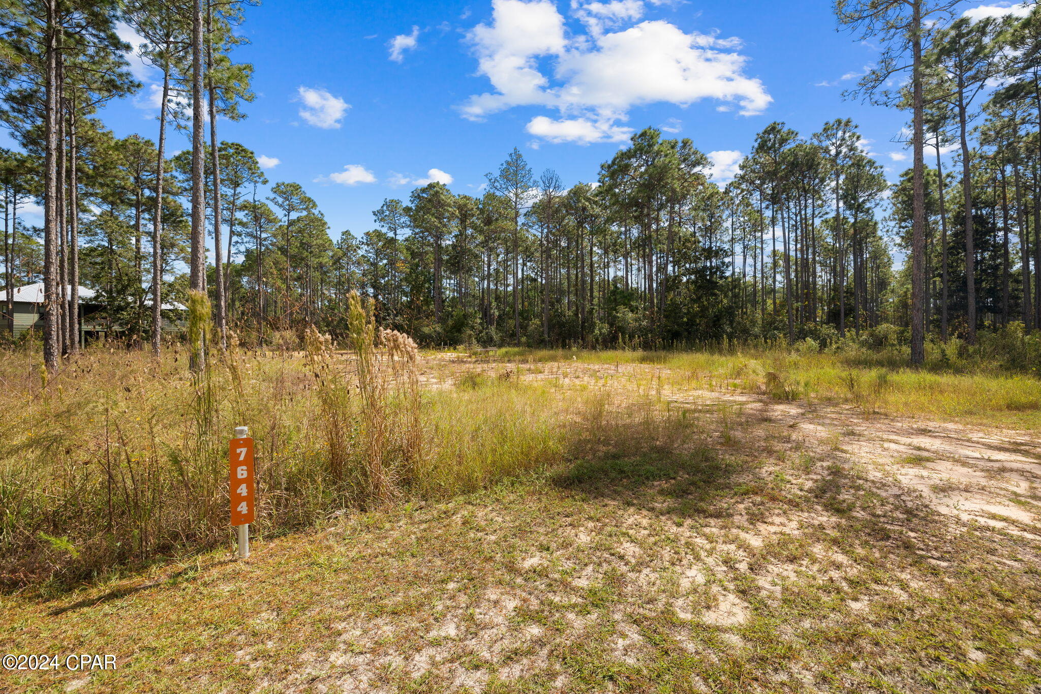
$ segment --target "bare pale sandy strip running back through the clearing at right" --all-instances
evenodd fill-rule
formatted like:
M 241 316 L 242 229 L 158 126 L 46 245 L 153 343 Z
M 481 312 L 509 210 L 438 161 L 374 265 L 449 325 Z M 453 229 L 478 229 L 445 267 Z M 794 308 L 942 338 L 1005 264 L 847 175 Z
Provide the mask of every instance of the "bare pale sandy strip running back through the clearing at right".
M 453 377 L 445 376 L 446 366 Z M 1041 538 L 1041 440 L 1031 434 L 866 415 L 853 406 L 780 402 L 735 390 L 656 387 L 656 382 L 675 383 L 677 379 L 668 377 L 676 374 L 640 364 L 518 365 L 448 354 L 427 360 L 425 380 L 447 385 L 468 369 L 497 378 L 595 384 L 623 392 L 642 383 L 643 392 L 676 406 L 723 409 L 732 417 L 753 418 L 775 435 L 784 433 L 792 449 L 827 451 L 830 457 L 897 483 L 903 493 L 945 514 Z

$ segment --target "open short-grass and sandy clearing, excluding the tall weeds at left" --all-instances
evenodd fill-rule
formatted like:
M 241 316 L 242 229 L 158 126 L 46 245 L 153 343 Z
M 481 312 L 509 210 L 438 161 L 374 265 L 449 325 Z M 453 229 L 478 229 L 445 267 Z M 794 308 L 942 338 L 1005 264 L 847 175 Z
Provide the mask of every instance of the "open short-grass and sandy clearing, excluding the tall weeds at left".
M 545 410 L 586 404 L 582 431 L 484 488 L 326 516 L 246 561 L 228 544 L 12 588 L 4 652 L 118 668 L 0 688 L 1041 691 L 1036 432 L 779 399 L 779 378 L 427 357 L 425 397 L 549 390 Z

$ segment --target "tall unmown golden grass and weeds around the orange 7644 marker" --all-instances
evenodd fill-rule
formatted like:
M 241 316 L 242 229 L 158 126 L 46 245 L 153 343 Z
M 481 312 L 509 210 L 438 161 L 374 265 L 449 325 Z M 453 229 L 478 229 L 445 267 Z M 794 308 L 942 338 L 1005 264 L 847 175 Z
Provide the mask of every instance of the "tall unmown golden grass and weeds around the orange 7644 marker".
M 348 354 L 311 331 L 302 356 L 232 344 L 195 377 L 179 349 L 155 360 L 96 346 L 49 379 L 0 356 L 3 584 L 57 589 L 230 543 L 238 426 L 255 440 L 254 533 L 271 537 L 524 477 L 595 455 L 590 441 L 653 447 L 661 421 L 680 419 L 508 378 L 425 387 L 407 336 L 360 304 L 352 315 Z

